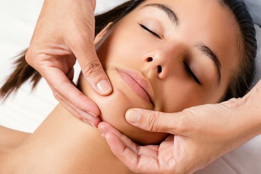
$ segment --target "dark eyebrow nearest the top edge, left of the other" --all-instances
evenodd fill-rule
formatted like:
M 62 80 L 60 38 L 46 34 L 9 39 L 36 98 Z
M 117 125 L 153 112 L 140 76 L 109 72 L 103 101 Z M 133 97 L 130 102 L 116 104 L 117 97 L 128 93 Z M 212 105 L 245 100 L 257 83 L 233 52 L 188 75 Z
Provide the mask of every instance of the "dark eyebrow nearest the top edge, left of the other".
M 148 7 L 148 6 L 156 7 L 156 8 L 159 8 L 160 10 L 163 10 L 175 25 L 179 24 L 179 19 L 178 19 L 176 13 L 168 6 L 166 6 L 162 3 L 149 3 L 149 4 L 144 5 L 142 8 Z

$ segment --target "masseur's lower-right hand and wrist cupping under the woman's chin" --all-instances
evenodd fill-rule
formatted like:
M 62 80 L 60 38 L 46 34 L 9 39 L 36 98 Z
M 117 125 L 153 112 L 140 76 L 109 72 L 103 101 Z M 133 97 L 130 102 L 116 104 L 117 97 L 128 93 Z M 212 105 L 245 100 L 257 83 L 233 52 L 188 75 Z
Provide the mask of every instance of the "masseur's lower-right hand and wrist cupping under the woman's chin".
M 179 113 L 131 109 L 133 126 L 171 135 L 159 146 L 139 146 L 105 122 L 98 125 L 112 153 L 140 174 L 192 174 L 261 133 L 261 83 L 244 98 Z

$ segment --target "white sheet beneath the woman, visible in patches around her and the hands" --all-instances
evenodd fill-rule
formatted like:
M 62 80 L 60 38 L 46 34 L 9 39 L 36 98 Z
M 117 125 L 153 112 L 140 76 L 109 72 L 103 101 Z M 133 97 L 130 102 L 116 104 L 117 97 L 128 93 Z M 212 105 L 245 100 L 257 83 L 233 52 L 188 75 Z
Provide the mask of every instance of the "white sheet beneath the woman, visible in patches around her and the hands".
M 100 13 L 123 1 L 126 0 L 97 0 L 95 12 Z M 0 0 L 0 85 L 11 72 L 10 58 L 28 47 L 42 2 L 43 0 Z M 257 30 L 261 39 L 261 29 Z M 261 48 L 260 40 L 259 48 Z M 261 60 L 258 61 L 257 67 L 255 82 L 261 79 Z M 80 72 L 78 65 L 76 70 Z M 30 92 L 30 87 L 26 83 L 17 94 L 0 105 L 0 125 L 33 132 L 55 107 L 57 101 L 44 80 L 40 81 L 35 91 Z M 259 174 L 260 147 L 261 136 L 258 136 L 197 174 Z

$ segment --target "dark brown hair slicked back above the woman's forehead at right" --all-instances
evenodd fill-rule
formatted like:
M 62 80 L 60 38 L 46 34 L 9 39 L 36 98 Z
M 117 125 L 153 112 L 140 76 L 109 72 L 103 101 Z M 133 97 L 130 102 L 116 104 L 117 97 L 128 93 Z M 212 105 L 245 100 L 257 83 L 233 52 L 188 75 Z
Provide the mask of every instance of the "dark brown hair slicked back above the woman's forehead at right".
M 255 77 L 257 39 L 254 22 L 244 2 L 239 0 L 219 0 L 235 17 L 239 26 L 240 57 L 238 68 L 231 73 L 227 91 L 221 101 L 243 97 Z

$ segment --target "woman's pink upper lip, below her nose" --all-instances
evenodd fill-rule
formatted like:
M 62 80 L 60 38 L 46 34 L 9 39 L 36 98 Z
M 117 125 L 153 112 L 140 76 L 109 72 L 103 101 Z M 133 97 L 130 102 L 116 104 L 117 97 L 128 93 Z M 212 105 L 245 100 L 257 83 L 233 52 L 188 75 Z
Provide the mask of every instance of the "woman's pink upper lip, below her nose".
M 134 81 L 136 81 L 137 84 L 139 84 L 139 86 L 141 86 L 146 91 L 147 95 L 150 98 L 150 101 L 152 102 L 152 104 L 154 104 L 153 90 L 151 87 L 151 83 L 147 78 L 143 76 L 143 74 L 140 71 L 135 71 L 131 69 L 121 69 L 121 68 L 117 68 L 117 70 L 128 74 L 132 79 L 134 79 Z

